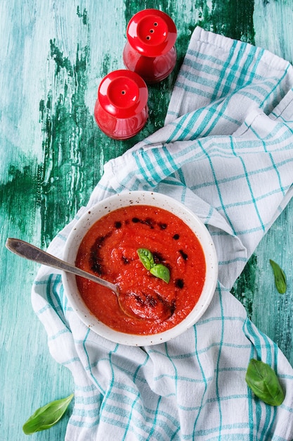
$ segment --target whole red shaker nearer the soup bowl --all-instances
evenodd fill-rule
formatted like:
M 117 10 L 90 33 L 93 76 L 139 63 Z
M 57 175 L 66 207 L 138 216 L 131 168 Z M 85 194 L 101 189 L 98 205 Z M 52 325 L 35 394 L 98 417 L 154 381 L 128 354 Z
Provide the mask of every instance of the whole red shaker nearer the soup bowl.
M 148 119 L 148 88 L 137 73 L 120 69 L 98 88 L 94 115 L 100 130 L 113 139 L 136 135 Z

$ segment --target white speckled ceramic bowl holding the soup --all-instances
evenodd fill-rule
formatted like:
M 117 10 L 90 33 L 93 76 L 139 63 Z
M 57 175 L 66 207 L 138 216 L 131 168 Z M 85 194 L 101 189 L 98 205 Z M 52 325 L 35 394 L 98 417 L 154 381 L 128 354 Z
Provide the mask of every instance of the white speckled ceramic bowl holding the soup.
M 122 192 L 115 194 L 115 196 L 104 199 L 95 206 L 91 207 L 89 211 L 86 211 L 84 215 L 77 221 L 73 230 L 70 232 L 65 244 L 65 250 L 63 259 L 69 263 L 75 264 L 77 251 L 79 245 L 86 232 L 91 228 L 91 225 L 96 223 L 99 218 L 105 216 L 110 211 L 122 208 L 130 205 L 150 205 L 156 206 L 161 209 L 174 213 L 178 218 L 181 218 L 190 228 L 193 230 L 197 239 L 202 245 L 204 256 L 206 260 L 206 277 L 204 286 L 202 288 L 202 294 L 200 299 L 195 304 L 195 307 L 188 314 L 188 316 L 169 330 L 162 333 L 152 335 L 133 335 L 117 332 L 112 328 L 109 328 L 104 323 L 100 322 L 93 313 L 89 311 L 86 304 L 82 300 L 79 290 L 77 288 L 77 282 L 74 275 L 69 273 L 63 273 L 63 286 L 65 288 L 65 294 L 70 300 L 70 304 L 74 311 L 76 311 L 79 318 L 84 322 L 86 326 L 89 326 L 98 335 L 101 335 L 112 342 L 121 344 L 128 344 L 131 346 L 148 346 L 151 344 L 158 344 L 167 342 L 171 338 L 174 338 L 185 330 L 194 325 L 206 311 L 216 289 L 216 280 L 218 277 L 218 261 L 216 257 L 216 250 L 214 243 L 211 240 L 211 236 L 205 225 L 195 214 L 187 209 L 183 204 L 176 201 L 171 197 L 167 197 L 164 194 L 156 192 Z M 114 294 L 113 294 L 114 295 Z

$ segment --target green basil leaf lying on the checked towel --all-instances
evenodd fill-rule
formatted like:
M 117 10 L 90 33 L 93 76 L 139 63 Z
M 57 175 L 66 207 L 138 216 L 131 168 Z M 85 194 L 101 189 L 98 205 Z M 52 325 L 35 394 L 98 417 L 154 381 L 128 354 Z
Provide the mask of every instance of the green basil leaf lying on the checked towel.
M 249 361 L 245 381 L 256 397 L 266 404 L 280 406 L 285 399 L 275 371 L 263 361 L 255 359 Z

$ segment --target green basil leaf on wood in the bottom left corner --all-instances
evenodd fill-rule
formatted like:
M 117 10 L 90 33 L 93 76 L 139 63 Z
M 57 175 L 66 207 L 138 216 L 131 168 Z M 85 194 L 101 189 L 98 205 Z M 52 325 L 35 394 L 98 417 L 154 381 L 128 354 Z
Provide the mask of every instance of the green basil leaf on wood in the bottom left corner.
M 58 423 L 73 397 L 74 394 L 63 399 L 57 399 L 37 409 L 22 426 L 25 435 L 32 435 L 32 433 L 40 430 L 49 429 Z

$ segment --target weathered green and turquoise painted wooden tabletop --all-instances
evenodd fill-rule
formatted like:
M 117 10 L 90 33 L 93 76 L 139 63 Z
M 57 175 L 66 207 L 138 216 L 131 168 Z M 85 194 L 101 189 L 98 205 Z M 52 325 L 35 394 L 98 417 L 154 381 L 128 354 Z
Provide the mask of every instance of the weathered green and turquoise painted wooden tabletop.
M 150 117 L 128 141 L 103 135 L 93 118 L 99 82 L 123 68 L 126 24 L 143 8 L 169 13 L 178 29 L 178 63 L 149 88 Z M 56 364 L 32 311 L 37 266 L 5 248 L 19 237 L 46 248 L 103 173 L 103 164 L 163 125 L 176 73 L 195 25 L 293 59 L 293 0 L 1 0 L 0 2 L 0 441 L 25 440 L 37 407 L 70 395 L 69 371 Z M 293 201 L 264 237 L 233 292 L 252 321 L 293 364 Z M 269 259 L 288 288 L 278 294 Z M 70 409 L 69 411 L 70 412 Z M 67 418 L 32 435 L 62 440 Z

